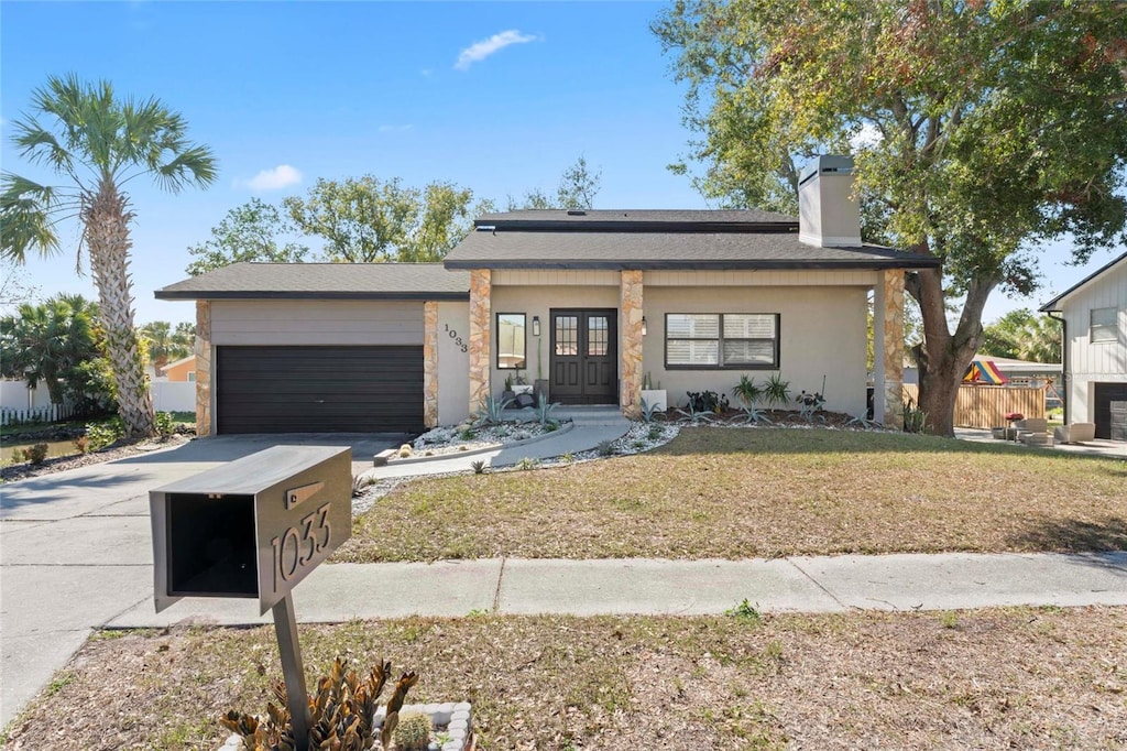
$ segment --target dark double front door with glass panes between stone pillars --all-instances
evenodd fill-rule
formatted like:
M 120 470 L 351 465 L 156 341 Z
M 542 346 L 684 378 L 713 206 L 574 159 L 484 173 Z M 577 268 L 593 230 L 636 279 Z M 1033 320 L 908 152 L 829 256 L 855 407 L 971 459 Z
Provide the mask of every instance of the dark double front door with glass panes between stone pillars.
M 551 383 L 560 404 L 618 404 L 619 311 L 552 310 Z

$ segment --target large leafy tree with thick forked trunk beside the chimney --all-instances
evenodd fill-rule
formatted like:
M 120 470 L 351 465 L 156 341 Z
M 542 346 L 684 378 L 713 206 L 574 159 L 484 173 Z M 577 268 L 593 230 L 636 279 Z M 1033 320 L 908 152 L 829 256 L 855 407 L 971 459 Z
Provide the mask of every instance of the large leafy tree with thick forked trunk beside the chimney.
M 905 284 L 920 406 L 952 434 L 988 295 L 1035 286 L 1024 248 L 1072 233 L 1082 260 L 1125 240 L 1125 18 L 1121 1 L 678 0 L 654 30 L 690 85 L 706 195 L 771 207 L 796 159 L 852 142 L 867 218 L 942 262 Z

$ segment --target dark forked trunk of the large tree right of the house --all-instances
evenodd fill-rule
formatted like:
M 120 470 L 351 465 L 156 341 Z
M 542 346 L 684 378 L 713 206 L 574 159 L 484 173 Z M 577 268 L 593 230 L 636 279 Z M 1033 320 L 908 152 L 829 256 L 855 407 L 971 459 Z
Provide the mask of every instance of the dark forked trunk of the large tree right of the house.
M 983 342 L 982 313 L 999 279 L 983 274 L 971 280 L 955 334 L 947 325 L 942 270 L 928 268 L 905 279 L 905 289 L 920 302 L 923 344 L 915 347 L 920 370 L 919 407 L 928 415 L 928 431 L 955 435 L 955 401 L 967 366 Z

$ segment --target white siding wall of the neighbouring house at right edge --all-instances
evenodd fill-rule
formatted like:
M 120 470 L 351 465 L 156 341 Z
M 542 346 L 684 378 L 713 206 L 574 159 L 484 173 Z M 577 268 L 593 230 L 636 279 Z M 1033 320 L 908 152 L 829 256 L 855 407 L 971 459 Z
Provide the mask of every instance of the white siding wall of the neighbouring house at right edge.
M 1127 383 L 1127 262 L 1120 262 L 1064 299 L 1068 329 L 1068 388 L 1074 422 L 1094 419 L 1092 383 Z M 1118 336 L 1091 341 L 1092 311 L 1116 310 Z

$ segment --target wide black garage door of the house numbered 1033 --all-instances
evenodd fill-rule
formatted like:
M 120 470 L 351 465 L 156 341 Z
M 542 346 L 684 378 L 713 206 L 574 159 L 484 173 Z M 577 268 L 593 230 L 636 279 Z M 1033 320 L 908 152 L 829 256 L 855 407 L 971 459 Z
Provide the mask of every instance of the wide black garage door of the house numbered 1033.
M 215 413 L 220 433 L 417 433 L 423 347 L 216 347 Z

